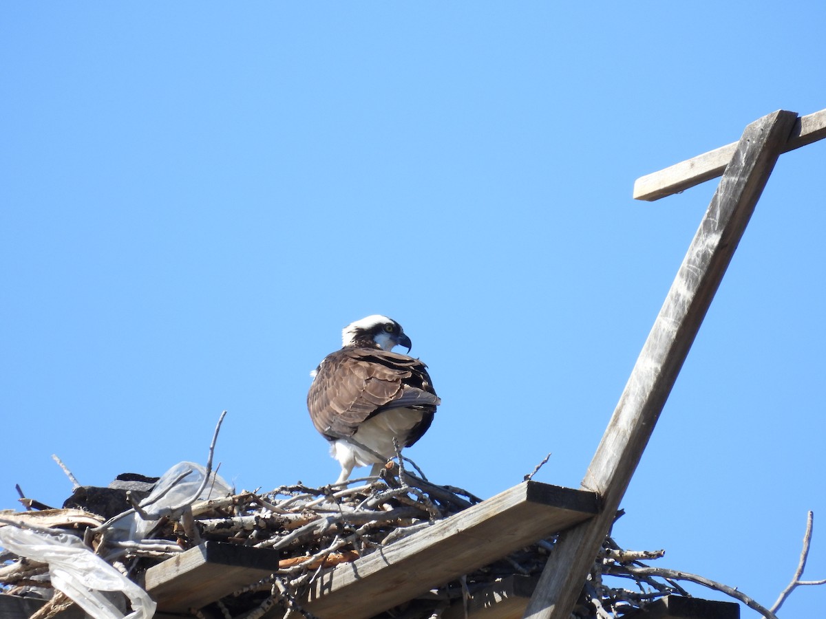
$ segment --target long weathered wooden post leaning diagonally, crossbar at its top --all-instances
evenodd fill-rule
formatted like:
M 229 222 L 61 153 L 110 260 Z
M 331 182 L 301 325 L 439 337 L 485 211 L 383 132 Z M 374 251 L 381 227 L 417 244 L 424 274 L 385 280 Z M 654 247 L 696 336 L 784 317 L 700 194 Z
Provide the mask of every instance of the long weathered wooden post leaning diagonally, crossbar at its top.
M 582 480 L 602 511 L 560 536 L 525 617 L 570 615 L 795 118 L 776 111 L 743 132 Z

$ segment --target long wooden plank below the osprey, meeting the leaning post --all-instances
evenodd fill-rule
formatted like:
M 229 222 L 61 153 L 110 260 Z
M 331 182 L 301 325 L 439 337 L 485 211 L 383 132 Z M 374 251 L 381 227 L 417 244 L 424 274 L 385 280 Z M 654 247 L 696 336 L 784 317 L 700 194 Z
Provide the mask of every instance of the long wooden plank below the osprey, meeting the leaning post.
M 359 619 L 501 559 L 597 513 L 596 494 L 527 481 L 323 574 L 304 607 Z

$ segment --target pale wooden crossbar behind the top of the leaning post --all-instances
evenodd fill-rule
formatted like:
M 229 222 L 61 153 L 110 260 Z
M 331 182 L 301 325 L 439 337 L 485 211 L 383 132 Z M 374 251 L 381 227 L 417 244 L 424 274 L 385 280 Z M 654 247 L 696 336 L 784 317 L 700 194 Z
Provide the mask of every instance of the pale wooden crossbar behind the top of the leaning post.
M 789 139 L 781 152 L 787 153 L 824 138 L 826 138 L 826 110 L 800 116 L 791 128 Z M 719 177 L 731 161 L 737 144 L 737 142 L 726 144 L 719 149 L 710 150 L 695 158 L 676 163 L 670 168 L 639 177 L 634 182 L 634 200 L 659 200 Z

